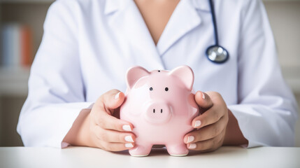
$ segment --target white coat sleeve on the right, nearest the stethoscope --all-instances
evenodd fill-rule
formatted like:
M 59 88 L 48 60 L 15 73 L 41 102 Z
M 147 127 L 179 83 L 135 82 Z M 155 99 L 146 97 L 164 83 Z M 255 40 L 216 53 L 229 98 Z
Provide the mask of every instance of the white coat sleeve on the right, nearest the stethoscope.
M 262 1 L 242 13 L 238 52 L 238 104 L 229 105 L 248 147 L 294 146 L 297 103 L 283 80 Z

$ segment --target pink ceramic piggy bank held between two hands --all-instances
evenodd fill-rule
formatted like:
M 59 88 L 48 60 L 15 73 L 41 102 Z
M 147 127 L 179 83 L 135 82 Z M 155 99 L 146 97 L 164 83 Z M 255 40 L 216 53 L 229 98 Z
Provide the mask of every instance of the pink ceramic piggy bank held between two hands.
M 170 155 L 189 153 L 183 138 L 193 130 L 199 115 L 194 100 L 194 73 L 189 66 L 172 71 L 147 71 L 135 66 L 127 71 L 127 90 L 120 118 L 134 125 L 131 156 L 149 155 L 153 145 L 164 145 Z

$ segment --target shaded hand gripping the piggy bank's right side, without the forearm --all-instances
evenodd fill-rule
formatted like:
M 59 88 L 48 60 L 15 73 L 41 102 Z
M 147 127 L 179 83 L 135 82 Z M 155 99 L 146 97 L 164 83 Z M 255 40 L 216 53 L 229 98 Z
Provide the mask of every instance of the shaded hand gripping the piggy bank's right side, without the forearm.
M 227 105 L 218 92 L 196 92 L 195 100 L 201 116 L 192 120 L 197 128 L 185 135 L 187 148 L 193 151 L 210 152 L 222 146 L 229 120 Z

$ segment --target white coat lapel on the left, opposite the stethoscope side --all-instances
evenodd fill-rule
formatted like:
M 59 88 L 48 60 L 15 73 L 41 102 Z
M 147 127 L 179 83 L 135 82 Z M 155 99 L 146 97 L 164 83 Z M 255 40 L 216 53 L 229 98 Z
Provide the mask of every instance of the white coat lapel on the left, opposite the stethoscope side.
M 144 66 L 148 70 L 164 69 L 161 57 L 145 25 L 143 17 L 132 0 L 106 1 L 106 15 L 109 25 L 121 32 L 134 50 L 134 65 Z

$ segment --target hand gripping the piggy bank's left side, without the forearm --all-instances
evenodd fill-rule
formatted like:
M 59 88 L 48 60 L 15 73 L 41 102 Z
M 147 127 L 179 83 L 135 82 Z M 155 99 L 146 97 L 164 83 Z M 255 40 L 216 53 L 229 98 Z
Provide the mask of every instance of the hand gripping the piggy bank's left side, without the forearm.
M 134 147 L 133 125 L 113 116 L 120 112 L 124 93 L 110 90 L 99 97 L 89 114 L 92 146 L 106 151 L 124 151 Z

